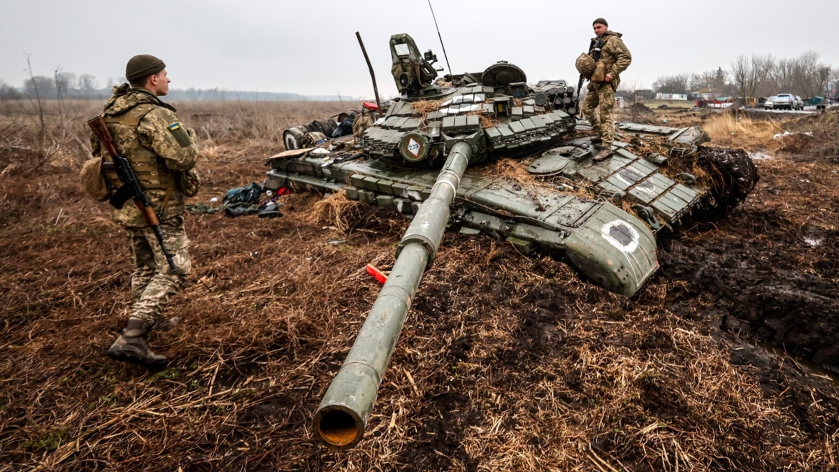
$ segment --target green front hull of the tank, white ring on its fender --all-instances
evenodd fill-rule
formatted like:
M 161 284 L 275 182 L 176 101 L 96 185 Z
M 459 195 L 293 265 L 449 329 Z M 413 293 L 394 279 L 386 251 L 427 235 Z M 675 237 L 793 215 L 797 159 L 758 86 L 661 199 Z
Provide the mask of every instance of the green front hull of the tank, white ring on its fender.
M 352 200 L 409 218 L 430 196 L 439 172 L 405 169 L 383 160 L 325 163 L 299 157 L 277 158 L 271 164 L 268 189 L 344 191 Z M 524 254 L 566 260 L 587 279 L 624 296 L 633 296 L 659 267 L 652 231 L 612 203 L 493 179 L 480 168 L 462 176 L 449 223 L 461 231 L 506 240 Z

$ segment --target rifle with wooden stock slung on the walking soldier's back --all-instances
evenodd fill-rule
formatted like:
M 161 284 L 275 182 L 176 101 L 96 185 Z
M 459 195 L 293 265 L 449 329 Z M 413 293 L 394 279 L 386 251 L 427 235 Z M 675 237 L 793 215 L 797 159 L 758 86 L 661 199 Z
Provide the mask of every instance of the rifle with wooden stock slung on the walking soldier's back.
M 166 246 L 164 245 L 163 230 L 160 229 L 160 222 L 158 221 L 157 215 L 154 214 L 152 203 L 149 202 L 149 196 L 146 195 L 146 191 L 144 191 L 143 187 L 140 186 L 140 182 L 137 180 L 137 174 L 134 173 L 131 162 L 127 157 L 117 152 L 117 147 L 113 144 L 111 132 L 108 131 L 105 120 L 102 119 L 102 115 L 96 115 L 95 117 L 87 120 L 87 124 L 91 127 L 93 134 L 96 134 L 96 138 L 99 138 L 99 141 L 102 142 L 105 149 L 107 149 L 107 153 L 111 155 L 111 158 L 113 159 L 113 162 L 102 162 L 102 170 L 116 170 L 119 180 L 122 181 L 122 186 L 119 187 L 113 197 L 111 197 L 110 203 L 116 208 L 122 208 L 122 205 L 125 204 L 128 198 L 132 198 L 140 212 L 143 213 L 143 218 L 145 218 L 146 223 L 149 223 L 149 226 L 154 231 L 154 236 L 160 244 L 160 250 L 163 251 L 163 254 L 166 256 L 166 261 L 169 262 L 169 268 L 172 270 L 178 270 L 175 266 L 175 254 L 167 251 Z

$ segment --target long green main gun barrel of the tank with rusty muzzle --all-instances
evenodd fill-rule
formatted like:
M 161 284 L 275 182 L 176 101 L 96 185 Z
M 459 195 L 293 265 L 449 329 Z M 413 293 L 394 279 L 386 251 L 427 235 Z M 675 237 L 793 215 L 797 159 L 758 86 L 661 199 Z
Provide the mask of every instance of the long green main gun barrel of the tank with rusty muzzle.
M 466 142 L 451 146 L 430 197 L 420 206 L 399 243 L 393 270 L 341 370 L 315 411 L 312 429 L 321 443 L 347 449 L 361 441 L 384 370 L 422 275 L 430 268 L 440 247 L 449 221 L 449 206 L 472 154 L 472 147 Z

